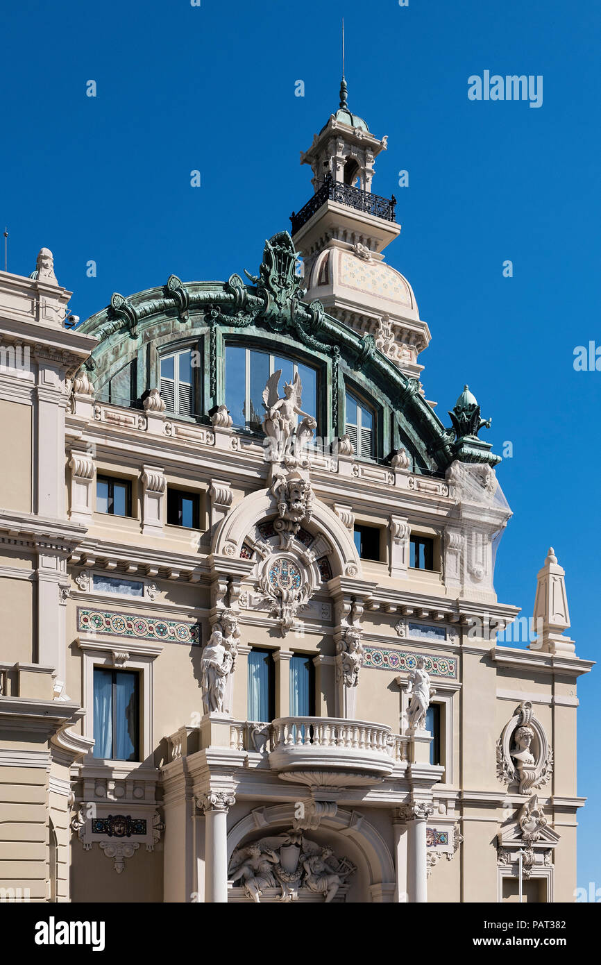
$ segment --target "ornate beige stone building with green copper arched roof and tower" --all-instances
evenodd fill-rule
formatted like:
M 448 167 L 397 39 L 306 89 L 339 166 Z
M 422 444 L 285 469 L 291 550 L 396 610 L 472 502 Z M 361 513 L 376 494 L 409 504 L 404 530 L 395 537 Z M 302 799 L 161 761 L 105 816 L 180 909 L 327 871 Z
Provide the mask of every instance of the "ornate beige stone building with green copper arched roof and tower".
M 383 150 L 342 83 L 246 280 L 69 327 L 47 249 L 0 273 L 5 898 L 572 899 L 592 664 L 552 549 L 497 639 L 500 459 L 425 399 Z

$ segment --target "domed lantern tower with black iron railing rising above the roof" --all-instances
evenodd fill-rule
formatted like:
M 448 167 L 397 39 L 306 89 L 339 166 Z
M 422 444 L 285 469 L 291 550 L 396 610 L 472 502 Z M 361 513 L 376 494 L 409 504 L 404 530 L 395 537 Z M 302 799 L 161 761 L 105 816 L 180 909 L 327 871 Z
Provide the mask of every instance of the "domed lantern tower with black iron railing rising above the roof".
M 415 295 L 383 250 L 400 232 L 396 198 L 371 191 L 374 161 L 387 149 L 348 106 L 342 71 L 340 106 L 331 114 L 301 164 L 313 171 L 314 195 L 293 212 L 292 238 L 305 266 L 307 297 L 375 343 L 403 372 L 420 376 L 418 355 L 430 332 Z

